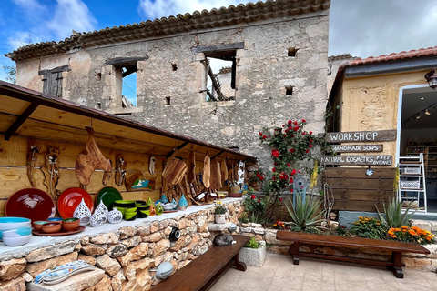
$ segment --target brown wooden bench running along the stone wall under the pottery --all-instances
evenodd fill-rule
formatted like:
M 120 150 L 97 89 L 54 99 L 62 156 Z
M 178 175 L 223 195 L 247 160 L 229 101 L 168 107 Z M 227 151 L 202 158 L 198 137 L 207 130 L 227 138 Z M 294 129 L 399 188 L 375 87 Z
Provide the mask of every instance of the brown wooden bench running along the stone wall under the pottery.
M 232 236 L 237 244 L 211 246 L 195 260 L 153 287 L 153 291 L 197 291 L 208 290 L 231 266 L 246 271 L 246 264 L 239 261 L 239 250 L 245 246 L 249 236 Z

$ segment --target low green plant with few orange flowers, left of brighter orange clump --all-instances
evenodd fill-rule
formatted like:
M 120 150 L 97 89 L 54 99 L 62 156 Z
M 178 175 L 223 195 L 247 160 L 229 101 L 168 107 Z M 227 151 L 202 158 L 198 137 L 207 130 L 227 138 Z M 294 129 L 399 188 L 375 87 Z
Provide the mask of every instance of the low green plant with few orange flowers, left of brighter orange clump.
M 360 236 L 373 239 L 386 239 L 388 227 L 381 223 L 380 220 L 375 217 L 358 217 L 359 220 L 353 223 L 351 233 Z

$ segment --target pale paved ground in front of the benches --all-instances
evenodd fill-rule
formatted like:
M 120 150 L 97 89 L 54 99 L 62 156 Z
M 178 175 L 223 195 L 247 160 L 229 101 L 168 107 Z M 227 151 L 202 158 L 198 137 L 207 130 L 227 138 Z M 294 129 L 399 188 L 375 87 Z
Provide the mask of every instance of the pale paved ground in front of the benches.
M 301 258 L 294 266 L 291 256 L 268 253 L 262 267 L 248 266 L 246 272 L 229 269 L 210 291 L 291 290 L 437 290 L 437 274 L 404 268 L 397 279 L 383 267 Z

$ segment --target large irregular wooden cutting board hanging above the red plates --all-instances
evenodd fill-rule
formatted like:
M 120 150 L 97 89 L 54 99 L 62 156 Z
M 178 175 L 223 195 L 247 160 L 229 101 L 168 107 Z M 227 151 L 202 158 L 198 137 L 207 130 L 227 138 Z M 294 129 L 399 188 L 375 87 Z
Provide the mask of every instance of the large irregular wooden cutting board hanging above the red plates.
M 104 170 L 110 172 L 112 169 L 109 160 L 103 156 L 102 152 L 98 149 L 96 141 L 94 140 L 94 129 L 92 127 L 85 127 L 88 133 L 88 141 L 86 142 L 86 150 L 83 154 L 79 154 L 76 159 L 75 172 L 77 180 L 82 185 L 89 185 L 91 176 L 94 171 Z

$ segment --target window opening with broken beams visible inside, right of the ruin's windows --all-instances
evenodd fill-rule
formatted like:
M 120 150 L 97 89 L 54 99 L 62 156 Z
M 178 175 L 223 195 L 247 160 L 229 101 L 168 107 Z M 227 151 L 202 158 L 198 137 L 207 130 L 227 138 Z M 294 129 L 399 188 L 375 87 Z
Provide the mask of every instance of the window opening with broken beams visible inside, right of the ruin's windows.
M 206 101 L 235 100 L 236 51 L 205 54 L 207 75 Z

